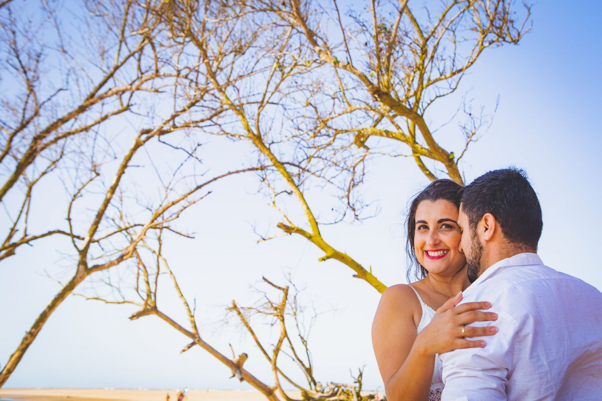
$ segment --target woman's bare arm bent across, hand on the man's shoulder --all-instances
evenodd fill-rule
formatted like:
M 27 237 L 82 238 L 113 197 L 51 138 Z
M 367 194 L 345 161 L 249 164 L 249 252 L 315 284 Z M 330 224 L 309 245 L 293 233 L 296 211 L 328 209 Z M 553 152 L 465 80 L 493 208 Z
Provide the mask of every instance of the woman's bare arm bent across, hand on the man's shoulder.
M 421 315 L 422 311 L 414 291 L 399 284 L 383 293 L 372 325 L 372 343 L 390 401 L 428 399 L 435 354 L 484 346 L 482 341 L 462 337 L 462 326 L 477 320 L 495 320 L 497 316 L 477 311 L 491 307 L 488 302 L 470 302 L 455 308 L 461 299 L 458 294 L 445 302 L 417 335 L 414 315 Z M 467 326 L 464 334 L 474 337 L 495 331 L 491 327 Z

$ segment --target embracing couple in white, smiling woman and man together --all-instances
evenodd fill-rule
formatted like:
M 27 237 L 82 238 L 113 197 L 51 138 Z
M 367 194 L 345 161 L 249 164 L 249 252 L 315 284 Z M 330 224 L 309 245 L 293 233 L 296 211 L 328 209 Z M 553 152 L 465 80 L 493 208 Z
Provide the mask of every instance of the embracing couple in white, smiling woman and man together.
M 414 198 L 406 250 L 420 280 L 387 289 L 372 326 L 389 401 L 602 400 L 602 293 L 544 265 L 541 231 L 514 168 Z

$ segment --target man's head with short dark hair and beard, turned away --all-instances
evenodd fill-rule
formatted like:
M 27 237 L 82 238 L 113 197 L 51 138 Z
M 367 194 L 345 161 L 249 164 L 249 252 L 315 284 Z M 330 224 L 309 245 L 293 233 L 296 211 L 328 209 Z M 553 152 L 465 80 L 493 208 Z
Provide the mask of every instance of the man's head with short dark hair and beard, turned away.
M 498 260 L 535 252 L 543 227 L 537 195 L 516 168 L 489 171 L 465 186 L 458 224 L 471 280 Z

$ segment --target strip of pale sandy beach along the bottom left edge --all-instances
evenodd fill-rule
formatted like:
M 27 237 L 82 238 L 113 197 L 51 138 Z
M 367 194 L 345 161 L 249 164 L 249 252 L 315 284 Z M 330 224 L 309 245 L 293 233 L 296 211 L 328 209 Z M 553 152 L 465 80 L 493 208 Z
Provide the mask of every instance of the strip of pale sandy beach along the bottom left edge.
M 178 390 L 128 390 L 99 388 L 4 388 L 0 399 L 26 401 L 176 401 Z M 299 393 L 291 391 L 293 397 Z M 259 391 L 188 390 L 184 401 L 264 401 Z

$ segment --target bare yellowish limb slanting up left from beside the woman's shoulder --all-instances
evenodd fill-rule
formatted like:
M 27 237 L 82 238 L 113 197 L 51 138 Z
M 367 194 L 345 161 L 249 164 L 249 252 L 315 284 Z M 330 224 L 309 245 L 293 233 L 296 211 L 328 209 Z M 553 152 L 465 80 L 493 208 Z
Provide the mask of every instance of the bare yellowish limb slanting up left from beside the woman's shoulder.
M 287 123 L 287 110 L 297 107 L 294 98 L 303 91 L 298 80 L 320 63 L 307 66 L 303 60 L 309 57 L 308 48 L 293 40 L 293 28 L 282 28 L 269 13 L 258 13 L 249 5 L 208 2 L 197 10 L 173 2 L 170 7 L 173 37 L 182 38 L 197 52 L 216 102 L 226 108 L 221 117 L 228 123 L 216 121 L 203 131 L 251 145 L 257 164 L 265 167 L 259 177 L 262 189 L 281 212 L 284 222 L 279 227 L 285 233 L 302 234 L 324 251 L 321 260 L 339 260 L 353 269 L 355 277 L 384 291 L 386 286 L 370 269 L 324 240 L 304 194 L 314 184 L 349 188 L 344 182 L 355 179 L 355 166 L 365 158 L 364 150 L 338 152 L 332 144 L 309 147 L 307 135 L 298 135 Z M 278 47 L 273 46 L 275 40 Z M 249 43 L 253 46 L 247 51 Z M 294 223 L 279 207 L 281 198 L 289 196 L 297 201 L 303 224 Z

